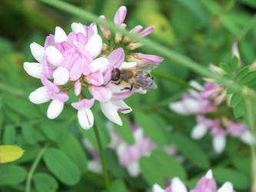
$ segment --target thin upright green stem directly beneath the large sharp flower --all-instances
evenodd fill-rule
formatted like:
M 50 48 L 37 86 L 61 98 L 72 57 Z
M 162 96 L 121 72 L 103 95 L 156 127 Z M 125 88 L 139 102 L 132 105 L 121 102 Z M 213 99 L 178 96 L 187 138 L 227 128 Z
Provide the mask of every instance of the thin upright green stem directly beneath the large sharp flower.
M 102 165 L 102 169 L 103 169 L 103 173 L 104 173 L 105 187 L 106 187 L 106 190 L 108 192 L 110 192 L 109 182 L 108 182 L 108 170 L 107 170 L 107 166 L 106 166 L 105 155 L 104 155 L 103 147 L 101 144 L 101 137 L 98 133 L 98 128 L 97 128 L 96 124 L 93 125 L 93 130 L 95 131 L 95 137 L 98 142 L 98 150 L 101 154 L 101 165 Z

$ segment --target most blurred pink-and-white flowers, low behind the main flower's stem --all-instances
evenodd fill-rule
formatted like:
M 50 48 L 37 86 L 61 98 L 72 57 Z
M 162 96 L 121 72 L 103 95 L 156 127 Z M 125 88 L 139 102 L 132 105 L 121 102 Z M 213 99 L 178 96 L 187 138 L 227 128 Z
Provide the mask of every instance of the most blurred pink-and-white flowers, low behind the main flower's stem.
M 151 141 L 151 139 L 144 133 L 143 129 L 138 127 L 137 124 L 132 125 L 132 134 L 135 138 L 135 144 L 132 145 L 128 145 L 120 137 L 111 122 L 108 122 L 107 127 L 111 134 L 111 143 L 108 147 L 116 151 L 119 163 L 121 166 L 127 168 L 128 174 L 131 177 L 138 177 L 138 175 L 141 174 L 139 160 L 143 156 L 148 156 L 151 151 L 157 148 L 156 144 Z M 84 144 L 94 157 L 94 160 L 88 162 L 88 169 L 101 173 L 101 161 L 98 151 L 91 146 L 91 143 L 86 138 L 84 139 Z M 170 155 L 175 155 L 177 153 L 174 146 L 166 146 L 163 150 Z

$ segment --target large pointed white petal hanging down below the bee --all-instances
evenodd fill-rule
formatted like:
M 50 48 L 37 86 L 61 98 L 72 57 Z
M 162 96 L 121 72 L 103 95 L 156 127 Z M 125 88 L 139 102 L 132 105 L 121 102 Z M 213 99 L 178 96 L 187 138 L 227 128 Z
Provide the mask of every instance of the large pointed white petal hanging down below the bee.
M 111 101 L 107 102 L 100 102 L 101 111 L 105 114 L 106 118 L 110 121 L 114 122 L 115 124 L 122 125 L 121 118 L 118 115 L 118 108 L 111 103 Z

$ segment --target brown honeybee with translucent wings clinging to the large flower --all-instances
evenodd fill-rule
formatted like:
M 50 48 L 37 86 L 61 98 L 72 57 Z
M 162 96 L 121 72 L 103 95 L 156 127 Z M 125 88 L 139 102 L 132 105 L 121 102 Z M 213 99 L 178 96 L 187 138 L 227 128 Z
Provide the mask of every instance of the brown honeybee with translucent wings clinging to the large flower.
M 150 71 L 156 66 L 158 64 L 141 64 L 133 68 L 114 68 L 111 71 L 111 82 L 117 85 L 129 85 L 128 87 L 122 88 L 121 91 L 131 91 L 132 88 L 142 88 L 144 90 L 155 89 L 157 86 Z

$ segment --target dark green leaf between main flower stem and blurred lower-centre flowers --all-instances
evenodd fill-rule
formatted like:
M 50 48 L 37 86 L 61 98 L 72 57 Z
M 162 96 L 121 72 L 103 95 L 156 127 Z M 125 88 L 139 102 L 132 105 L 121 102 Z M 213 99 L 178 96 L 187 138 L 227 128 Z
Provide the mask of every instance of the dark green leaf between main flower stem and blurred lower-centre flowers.
M 105 158 L 107 162 L 107 167 L 111 171 L 111 174 L 118 178 L 124 178 L 125 169 L 119 164 L 118 157 L 116 156 L 115 151 L 106 149 Z

